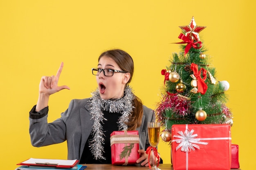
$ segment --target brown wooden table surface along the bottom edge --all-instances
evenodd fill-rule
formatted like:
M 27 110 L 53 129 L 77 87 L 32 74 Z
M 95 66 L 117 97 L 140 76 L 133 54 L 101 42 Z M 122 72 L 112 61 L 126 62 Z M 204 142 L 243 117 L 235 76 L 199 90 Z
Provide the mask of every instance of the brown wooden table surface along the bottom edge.
M 148 167 L 140 165 L 131 165 L 131 166 L 117 166 L 112 164 L 86 164 L 87 168 L 85 170 L 148 170 Z M 171 164 L 159 164 L 158 166 L 161 170 L 173 170 Z M 240 170 L 240 169 L 231 169 L 231 170 Z

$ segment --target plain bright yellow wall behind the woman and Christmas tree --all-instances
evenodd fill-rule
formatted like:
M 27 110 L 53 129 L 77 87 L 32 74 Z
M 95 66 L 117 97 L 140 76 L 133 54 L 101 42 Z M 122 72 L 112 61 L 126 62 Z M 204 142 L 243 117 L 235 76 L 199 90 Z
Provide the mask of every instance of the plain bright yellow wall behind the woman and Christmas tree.
M 155 109 L 164 81 L 161 70 L 180 51 L 171 43 L 181 41 L 178 26 L 189 25 L 192 16 L 197 25 L 207 26 L 200 38 L 218 80 L 230 84 L 232 142 L 239 145 L 240 168 L 255 169 L 254 7 L 252 0 L 0 0 L 0 169 L 14 170 L 30 157 L 67 158 L 65 142 L 35 148 L 29 139 L 29 111 L 40 78 L 56 74 L 61 61 L 59 85 L 71 90 L 51 96 L 49 122 L 71 99 L 90 97 L 97 87 L 91 68 L 111 48 L 133 57 L 131 85 Z M 159 152 L 164 163 L 171 162 L 168 144 L 160 142 Z

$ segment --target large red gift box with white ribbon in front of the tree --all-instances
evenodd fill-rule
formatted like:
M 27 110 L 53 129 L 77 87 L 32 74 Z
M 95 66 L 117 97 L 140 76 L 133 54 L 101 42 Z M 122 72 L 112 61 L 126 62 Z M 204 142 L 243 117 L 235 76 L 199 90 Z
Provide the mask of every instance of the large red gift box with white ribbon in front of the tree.
M 228 124 L 174 124 L 171 142 L 174 170 L 230 170 Z

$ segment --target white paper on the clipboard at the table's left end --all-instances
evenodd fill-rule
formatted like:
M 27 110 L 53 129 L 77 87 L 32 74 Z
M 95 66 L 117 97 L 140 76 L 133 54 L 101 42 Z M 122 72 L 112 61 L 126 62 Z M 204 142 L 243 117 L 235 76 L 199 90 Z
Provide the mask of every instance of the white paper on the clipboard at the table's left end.
M 25 164 L 57 164 L 58 166 L 71 166 L 76 162 L 76 159 L 74 160 L 63 160 L 63 159 L 35 159 L 30 158 L 26 161 L 23 161 L 22 163 Z

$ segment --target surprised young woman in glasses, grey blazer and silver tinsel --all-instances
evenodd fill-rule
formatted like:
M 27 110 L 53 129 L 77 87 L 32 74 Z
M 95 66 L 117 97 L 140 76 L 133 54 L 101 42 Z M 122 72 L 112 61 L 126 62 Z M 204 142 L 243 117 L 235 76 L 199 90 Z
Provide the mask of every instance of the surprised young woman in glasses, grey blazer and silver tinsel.
M 111 163 L 110 133 L 137 130 L 140 148 L 137 163 L 148 166 L 147 122 L 155 122 L 155 114 L 142 105 L 128 85 L 134 70 L 132 57 L 120 49 L 103 52 L 97 68 L 92 69 L 98 83 L 92 97 L 72 100 L 61 118 L 47 123 L 49 96 L 70 89 L 66 85 L 58 86 L 62 69 L 63 63 L 56 76 L 41 78 L 38 102 L 29 113 L 31 144 L 40 147 L 67 140 L 67 159 L 78 159 L 79 163 Z M 150 163 L 151 160 L 153 157 Z

